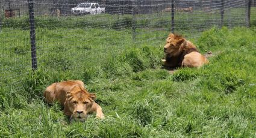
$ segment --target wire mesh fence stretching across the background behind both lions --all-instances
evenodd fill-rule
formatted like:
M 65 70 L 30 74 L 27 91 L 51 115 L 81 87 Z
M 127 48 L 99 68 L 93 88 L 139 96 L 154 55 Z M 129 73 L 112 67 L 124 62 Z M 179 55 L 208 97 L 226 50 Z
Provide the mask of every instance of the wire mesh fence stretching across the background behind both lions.
M 169 32 L 256 25 L 255 13 L 254 0 L 1 0 L 0 83 L 19 86 L 32 68 L 76 74 Z

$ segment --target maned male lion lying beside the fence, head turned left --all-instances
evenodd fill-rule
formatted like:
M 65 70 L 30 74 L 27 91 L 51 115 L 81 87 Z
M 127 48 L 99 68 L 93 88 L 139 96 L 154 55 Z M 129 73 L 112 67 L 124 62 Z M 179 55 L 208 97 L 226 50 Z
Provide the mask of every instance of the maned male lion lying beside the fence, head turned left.
M 162 62 L 166 67 L 201 67 L 208 63 L 207 58 L 198 52 L 195 45 L 181 35 L 169 34 L 164 53 L 166 57 Z

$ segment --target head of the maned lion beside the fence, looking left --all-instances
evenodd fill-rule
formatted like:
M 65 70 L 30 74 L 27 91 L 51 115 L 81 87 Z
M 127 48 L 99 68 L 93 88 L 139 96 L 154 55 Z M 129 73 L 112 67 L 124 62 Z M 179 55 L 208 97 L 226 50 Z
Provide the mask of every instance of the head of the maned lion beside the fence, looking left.
M 181 35 L 169 34 L 166 39 L 164 46 L 164 53 L 172 56 L 180 54 L 180 46 L 183 44 L 185 39 Z

